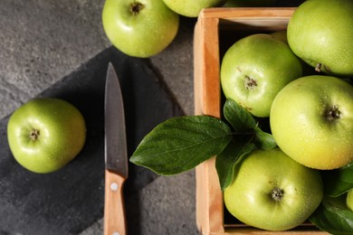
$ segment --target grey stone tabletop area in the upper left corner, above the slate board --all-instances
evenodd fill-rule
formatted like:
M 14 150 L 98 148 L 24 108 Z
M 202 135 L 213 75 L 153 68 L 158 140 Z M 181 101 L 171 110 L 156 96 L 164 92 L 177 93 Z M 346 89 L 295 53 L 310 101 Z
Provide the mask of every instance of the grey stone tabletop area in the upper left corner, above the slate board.
M 0 2 L 0 118 L 110 45 L 100 26 L 102 4 Z

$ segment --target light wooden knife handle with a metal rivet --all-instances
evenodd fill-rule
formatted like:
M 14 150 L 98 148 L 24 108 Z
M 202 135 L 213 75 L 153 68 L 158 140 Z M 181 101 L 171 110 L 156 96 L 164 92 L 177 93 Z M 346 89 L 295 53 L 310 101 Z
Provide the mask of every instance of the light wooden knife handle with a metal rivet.
M 125 179 L 109 170 L 105 171 L 104 235 L 126 235 L 123 197 Z

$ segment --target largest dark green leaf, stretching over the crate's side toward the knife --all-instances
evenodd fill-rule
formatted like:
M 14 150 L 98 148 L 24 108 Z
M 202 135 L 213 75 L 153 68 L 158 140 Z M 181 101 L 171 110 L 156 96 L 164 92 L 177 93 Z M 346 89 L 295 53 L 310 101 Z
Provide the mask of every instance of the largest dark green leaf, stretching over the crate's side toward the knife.
M 231 129 L 219 118 L 169 118 L 142 139 L 129 161 L 157 174 L 179 174 L 218 155 L 231 140 Z

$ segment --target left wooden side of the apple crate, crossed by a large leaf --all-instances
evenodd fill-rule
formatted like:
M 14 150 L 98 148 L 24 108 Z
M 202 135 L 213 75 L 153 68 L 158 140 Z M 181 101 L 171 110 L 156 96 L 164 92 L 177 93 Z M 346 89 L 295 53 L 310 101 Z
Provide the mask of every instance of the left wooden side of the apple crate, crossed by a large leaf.
M 199 17 L 195 27 L 194 55 L 196 58 L 194 58 L 194 89 L 196 115 L 219 117 L 219 105 L 217 105 L 217 102 L 213 102 L 215 106 L 205 106 L 205 100 L 217 100 L 220 93 L 213 93 L 213 89 L 205 88 L 205 80 L 203 80 L 206 78 L 205 74 L 215 74 L 219 70 L 219 66 L 213 62 L 219 61 L 217 24 L 218 18 L 211 18 L 204 21 L 203 17 Z M 205 34 L 208 37 L 205 37 Z M 207 60 L 205 60 L 205 56 L 207 56 Z M 215 85 L 215 89 L 219 87 L 219 83 L 216 81 L 213 85 Z M 198 229 L 202 232 L 224 231 L 223 226 L 219 226 L 223 225 L 223 218 L 217 217 L 217 221 L 215 221 L 216 213 L 219 208 L 222 208 L 223 201 L 219 202 L 217 200 L 218 198 L 222 199 L 222 193 L 220 192 L 219 183 L 216 182 L 217 178 L 211 175 L 215 175 L 215 158 L 205 161 L 205 163 L 196 167 L 196 223 Z M 210 192 L 215 192 L 215 197 L 208 197 L 207 194 Z M 216 211 L 211 208 L 214 208 Z M 212 211 L 214 211 L 214 214 L 210 215 Z

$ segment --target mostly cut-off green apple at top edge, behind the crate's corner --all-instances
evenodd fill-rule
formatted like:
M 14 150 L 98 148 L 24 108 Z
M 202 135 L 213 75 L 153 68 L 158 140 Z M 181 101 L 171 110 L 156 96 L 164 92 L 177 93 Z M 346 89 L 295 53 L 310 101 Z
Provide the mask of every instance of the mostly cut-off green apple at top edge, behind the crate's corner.
M 177 14 L 197 17 L 203 8 L 224 5 L 225 0 L 163 0 Z

